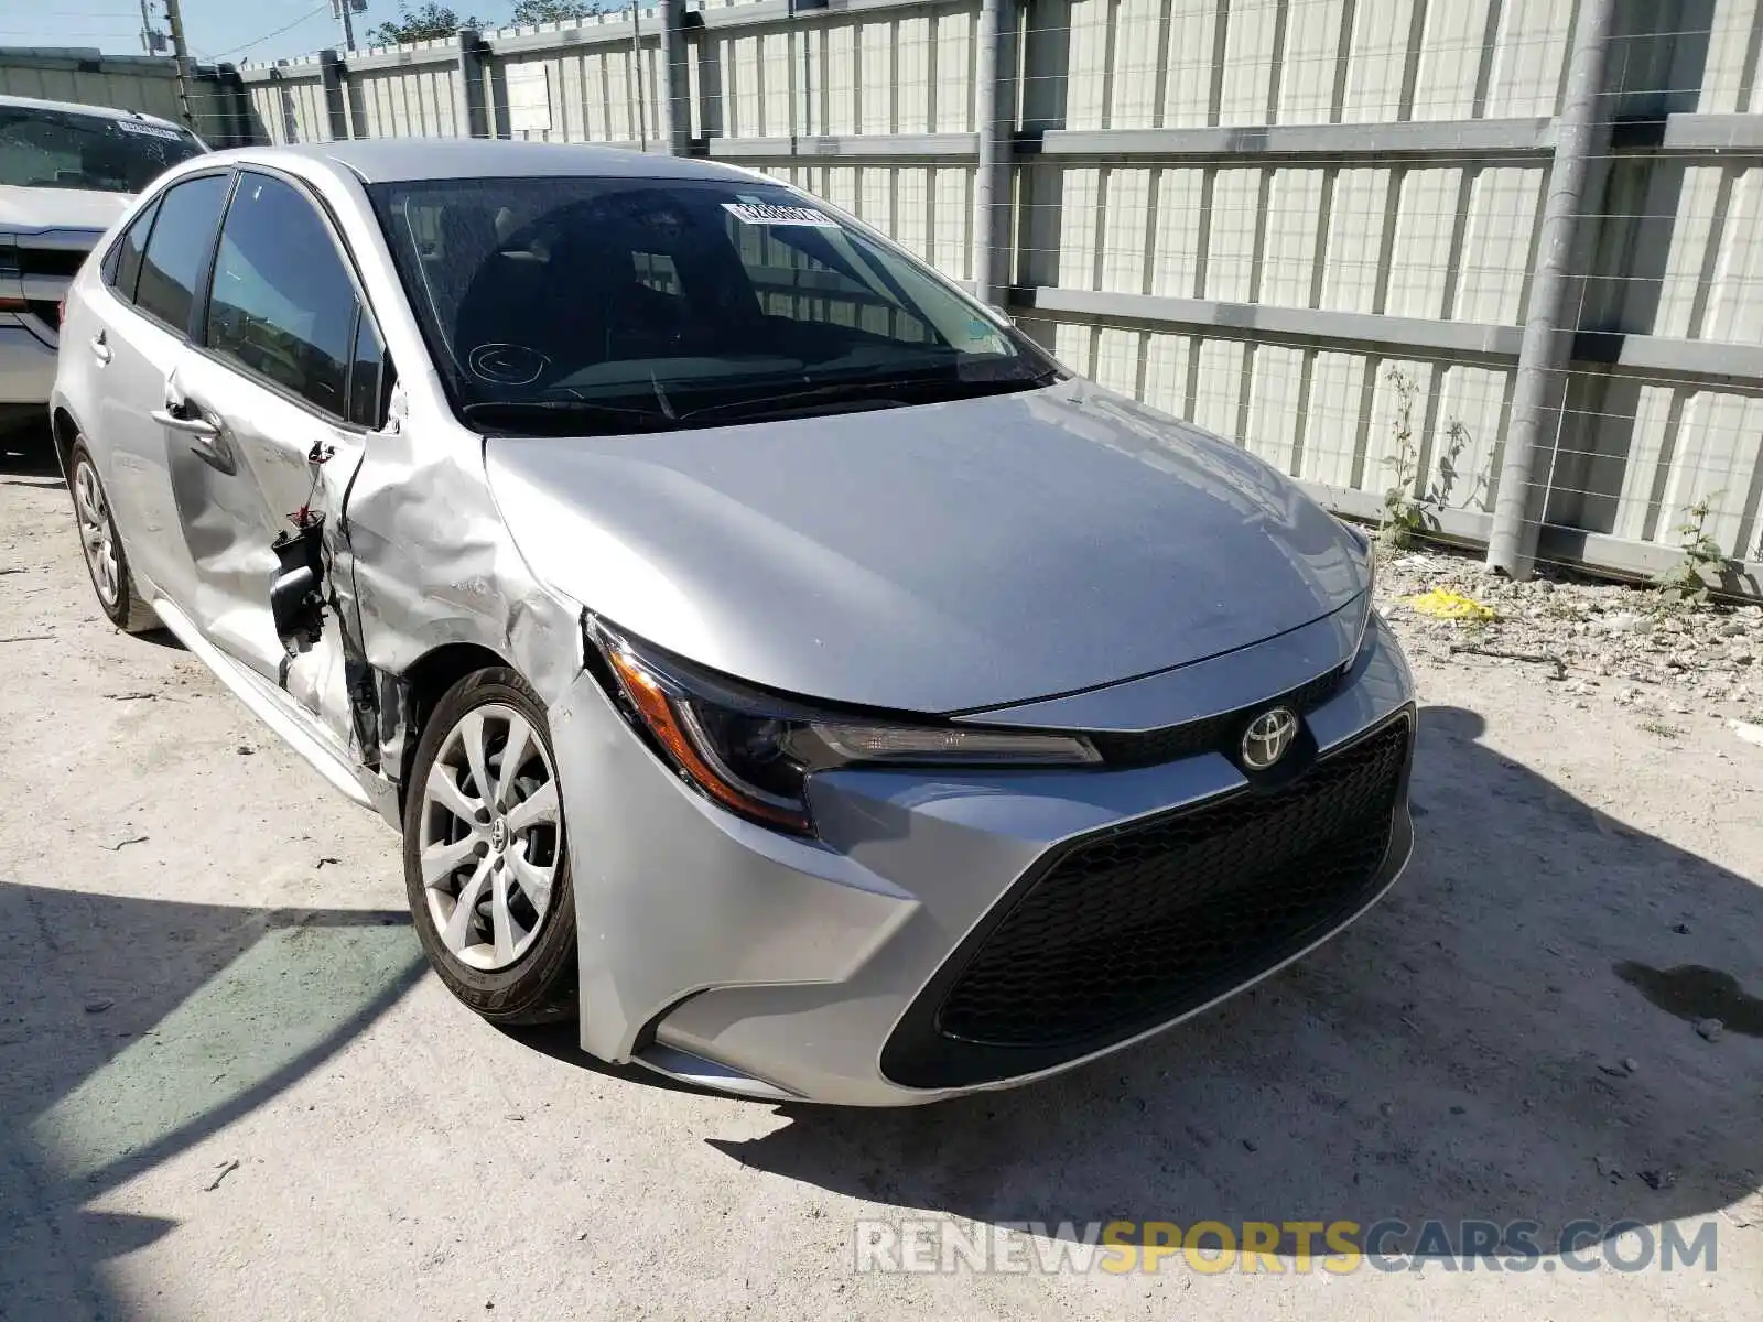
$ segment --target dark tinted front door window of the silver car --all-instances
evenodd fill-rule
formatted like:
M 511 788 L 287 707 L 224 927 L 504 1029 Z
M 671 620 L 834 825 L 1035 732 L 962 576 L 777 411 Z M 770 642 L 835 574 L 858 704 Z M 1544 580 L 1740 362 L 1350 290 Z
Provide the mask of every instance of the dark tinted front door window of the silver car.
M 356 307 L 330 226 L 305 194 L 266 175 L 242 175 L 220 227 L 208 347 L 347 418 Z

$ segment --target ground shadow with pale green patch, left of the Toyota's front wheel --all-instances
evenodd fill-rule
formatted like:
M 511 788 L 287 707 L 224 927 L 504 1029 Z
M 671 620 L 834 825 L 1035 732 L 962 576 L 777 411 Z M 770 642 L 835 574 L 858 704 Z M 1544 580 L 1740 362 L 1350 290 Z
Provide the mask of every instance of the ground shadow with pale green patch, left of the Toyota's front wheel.
M 425 968 L 402 911 L 0 881 L 0 1317 L 132 1317 L 104 1264 L 176 1227 L 93 1211 L 365 1031 Z M 217 1073 L 217 1061 L 226 1061 Z M 197 1188 L 224 1172 L 190 1170 Z

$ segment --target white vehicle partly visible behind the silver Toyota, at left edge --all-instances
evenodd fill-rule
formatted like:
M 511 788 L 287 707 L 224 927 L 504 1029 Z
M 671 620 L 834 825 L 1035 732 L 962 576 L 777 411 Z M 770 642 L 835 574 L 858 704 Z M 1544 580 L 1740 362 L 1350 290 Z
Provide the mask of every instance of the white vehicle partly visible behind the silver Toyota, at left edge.
M 48 418 L 60 303 L 134 196 L 206 152 L 136 111 L 0 97 L 0 437 Z

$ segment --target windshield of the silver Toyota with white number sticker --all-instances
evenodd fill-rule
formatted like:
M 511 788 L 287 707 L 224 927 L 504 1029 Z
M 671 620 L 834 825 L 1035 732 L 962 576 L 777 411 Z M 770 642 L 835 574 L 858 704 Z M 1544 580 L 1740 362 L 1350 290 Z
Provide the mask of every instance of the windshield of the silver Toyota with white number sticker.
M 783 185 L 490 178 L 370 189 L 455 409 L 619 434 L 1028 390 L 1058 368 Z

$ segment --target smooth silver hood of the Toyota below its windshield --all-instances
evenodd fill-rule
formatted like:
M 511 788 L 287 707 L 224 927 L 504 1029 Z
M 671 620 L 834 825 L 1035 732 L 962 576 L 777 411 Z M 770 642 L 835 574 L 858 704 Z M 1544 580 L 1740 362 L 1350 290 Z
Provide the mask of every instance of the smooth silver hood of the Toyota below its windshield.
M 1296 629 L 1365 552 L 1243 449 L 1081 381 L 635 437 L 492 437 L 539 582 L 785 693 L 961 712 Z

